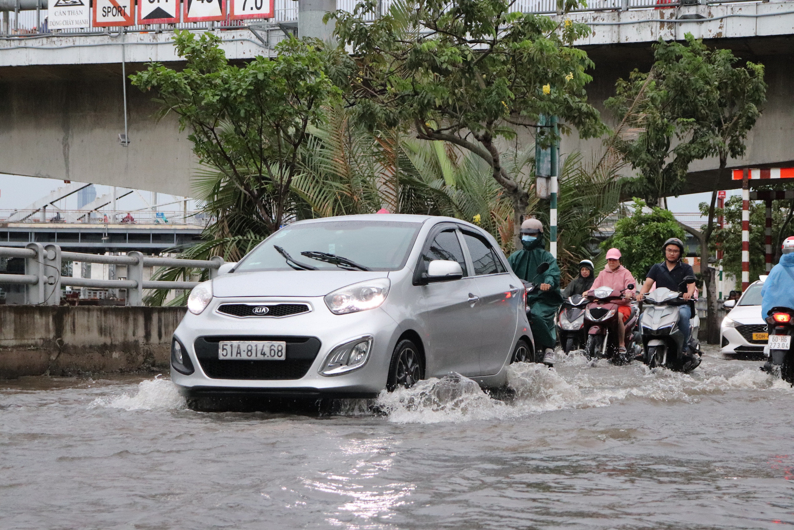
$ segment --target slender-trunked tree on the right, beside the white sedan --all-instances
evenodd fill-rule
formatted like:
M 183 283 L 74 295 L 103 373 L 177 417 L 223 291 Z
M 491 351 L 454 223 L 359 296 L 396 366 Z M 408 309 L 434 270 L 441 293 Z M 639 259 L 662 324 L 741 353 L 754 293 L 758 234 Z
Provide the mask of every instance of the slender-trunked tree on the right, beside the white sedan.
M 636 70 L 628 81 L 619 79 L 617 95 L 607 106 L 620 117 L 639 110 L 634 134 L 616 142 L 633 168 L 640 172 L 627 189 L 648 199 L 681 190 L 689 164 L 717 157 L 719 169 L 711 183 L 708 222 L 703 231 L 680 223 L 700 243 L 701 269 L 707 292 L 708 342 L 719 341 L 716 273 L 708 263 L 714 231 L 719 182 L 727 181 L 728 158 L 741 158 L 747 134 L 766 101 L 764 67 L 738 58 L 729 49 L 713 49 L 686 34 L 686 42 L 654 44 L 656 62 L 648 74 Z M 673 146 L 674 142 L 676 145 Z

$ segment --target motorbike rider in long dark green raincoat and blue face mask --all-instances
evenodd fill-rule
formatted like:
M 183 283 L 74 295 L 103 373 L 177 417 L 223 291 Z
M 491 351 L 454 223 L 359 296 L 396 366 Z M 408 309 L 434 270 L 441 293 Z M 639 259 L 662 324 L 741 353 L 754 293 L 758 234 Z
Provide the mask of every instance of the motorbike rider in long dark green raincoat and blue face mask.
M 530 307 L 530 328 L 535 341 L 535 351 L 543 352 L 543 364 L 553 366 L 554 346 L 557 332 L 554 329 L 554 315 L 562 304 L 560 293 L 560 268 L 557 259 L 543 248 L 543 224 L 538 219 L 526 219 L 521 224 L 522 250 L 516 250 L 507 258 L 513 272 L 524 281 L 540 284 L 526 297 Z M 545 273 L 538 274 L 536 269 L 543 262 L 549 264 Z

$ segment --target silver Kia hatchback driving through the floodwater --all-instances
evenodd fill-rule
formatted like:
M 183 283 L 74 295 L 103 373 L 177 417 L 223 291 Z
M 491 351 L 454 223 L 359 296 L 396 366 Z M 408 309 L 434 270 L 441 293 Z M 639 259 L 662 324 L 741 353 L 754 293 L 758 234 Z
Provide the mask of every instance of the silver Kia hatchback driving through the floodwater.
M 522 280 L 459 219 L 295 222 L 219 273 L 174 333 L 187 397 L 375 397 L 452 372 L 499 387 L 534 358 Z

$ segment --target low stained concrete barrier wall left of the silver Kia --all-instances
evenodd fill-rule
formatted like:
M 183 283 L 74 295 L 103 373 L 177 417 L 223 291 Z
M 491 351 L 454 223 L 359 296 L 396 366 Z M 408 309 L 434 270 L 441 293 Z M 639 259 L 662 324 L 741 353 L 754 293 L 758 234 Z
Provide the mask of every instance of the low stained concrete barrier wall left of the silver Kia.
M 186 308 L 0 306 L 0 379 L 168 369 Z

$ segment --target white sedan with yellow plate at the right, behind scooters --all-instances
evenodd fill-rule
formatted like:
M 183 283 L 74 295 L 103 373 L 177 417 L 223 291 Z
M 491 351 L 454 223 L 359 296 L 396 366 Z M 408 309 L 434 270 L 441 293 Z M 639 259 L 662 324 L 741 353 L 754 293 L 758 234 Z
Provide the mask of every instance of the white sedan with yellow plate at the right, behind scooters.
M 734 358 L 763 358 L 769 330 L 761 317 L 761 288 L 766 277 L 750 284 L 738 300 L 728 300 L 730 308 L 720 326 L 720 353 Z

